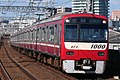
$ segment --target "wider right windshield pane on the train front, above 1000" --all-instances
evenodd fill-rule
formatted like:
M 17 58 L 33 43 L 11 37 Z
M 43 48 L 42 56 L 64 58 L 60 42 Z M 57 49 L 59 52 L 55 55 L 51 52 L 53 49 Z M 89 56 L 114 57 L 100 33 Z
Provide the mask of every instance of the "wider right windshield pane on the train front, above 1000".
M 96 41 L 105 42 L 107 41 L 107 26 L 98 25 L 81 25 L 80 27 L 80 41 Z

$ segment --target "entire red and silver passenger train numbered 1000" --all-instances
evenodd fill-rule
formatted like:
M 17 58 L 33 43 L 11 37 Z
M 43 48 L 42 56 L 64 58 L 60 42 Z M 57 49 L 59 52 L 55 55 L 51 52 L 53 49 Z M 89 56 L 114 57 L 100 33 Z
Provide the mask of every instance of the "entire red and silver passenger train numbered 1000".
M 66 73 L 102 74 L 108 60 L 108 20 L 58 14 L 11 36 L 12 46 Z

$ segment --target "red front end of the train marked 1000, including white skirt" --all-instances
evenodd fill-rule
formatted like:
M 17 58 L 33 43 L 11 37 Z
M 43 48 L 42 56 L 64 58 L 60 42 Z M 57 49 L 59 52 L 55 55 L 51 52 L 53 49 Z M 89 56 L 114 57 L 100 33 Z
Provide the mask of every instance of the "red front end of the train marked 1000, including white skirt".
M 60 56 L 66 73 L 102 74 L 108 60 L 107 18 L 93 14 L 64 16 Z

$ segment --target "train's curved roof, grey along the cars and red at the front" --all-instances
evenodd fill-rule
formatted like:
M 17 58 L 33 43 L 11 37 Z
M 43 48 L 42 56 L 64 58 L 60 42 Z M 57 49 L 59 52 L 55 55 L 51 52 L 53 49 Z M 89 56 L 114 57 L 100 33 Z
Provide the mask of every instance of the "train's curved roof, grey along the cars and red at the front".
M 43 24 L 43 23 L 47 23 L 47 22 L 61 20 L 63 16 L 66 16 L 66 17 L 68 17 L 68 16 L 71 16 L 71 17 L 74 17 L 74 16 L 85 17 L 85 16 L 87 16 L 87 17 L 95 17 L 95 18 L 107 19 L 105 16 L 100 16 L 100 15 L 96 15 L 96 14 L 89 14 L 89 13 L 72 14 L 70 12 L 65 12 L 65 13 L 56 14 L 56 15 L 54 15 L 52 17 L 40 20 L 39 22 L 36 22 L 36 23 L 34 23 L 33 25 L 31 25 L 29 27 L 26 27 L 23 30 L 21 30 L 21 31 L 15 33 L 15 34 L 19 34 L 19 33 L 31 30 L 31 29 L 33 29 L 33 26 L 36 26 L 37 24 Z

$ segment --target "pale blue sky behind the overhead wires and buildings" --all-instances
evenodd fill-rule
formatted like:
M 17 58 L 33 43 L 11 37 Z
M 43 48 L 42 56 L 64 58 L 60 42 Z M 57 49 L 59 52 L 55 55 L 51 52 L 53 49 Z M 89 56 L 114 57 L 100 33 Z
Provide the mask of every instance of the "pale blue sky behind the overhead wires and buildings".
M 29 4 L 29 1 L 30 0 L 0 0 L 0 6 L 6 6 L 6 5 L 10 5 L 10 6 L 14 6 L 14 5 L 26 5 L 26 6 L 28 6 L 28 4 Z M 41 0 L 35 0 L 36 1 L 36 3 L 37 3 L 37 1 L 39 2 L 39 1 L 41 1 Z M 47 0 L 42 0 L 43 2 L 44 1 L 47 1 Z M 50 1 L 50 0 L 48 0 L 48 1 Z M 71 2 L 72 2 L 72 0 L 53 0 L 53 1 L 55 1 L 55 6 L 63 6 L 63 7 L 71 7 Z M 109 3 L 110 3 L 110 7 L 109 7 L 109 9 L 110 9 L 110 15 L 111 15 L 111 11 L 112 10 L 116 10 L 116 9 L 119 9 L 120 10 L 120 0 L 110 0 L 109 1 Z M 38 3 L 36 4 L 36 5 L 38 5 Z M 50 6 L 51 6 L 51 4 L 50 4 Z M 1 12 L 0 12 L 0 14 L 2 14 Z M 6 16 L 7 14 L 2 14 L 3 16 Z

